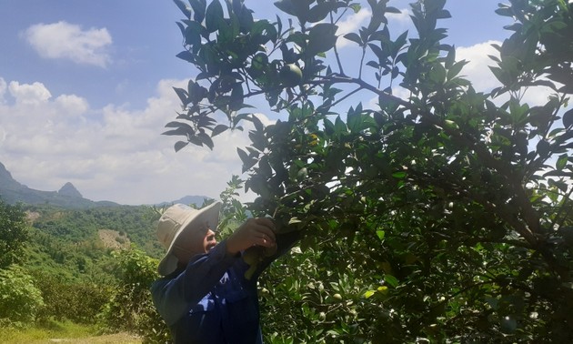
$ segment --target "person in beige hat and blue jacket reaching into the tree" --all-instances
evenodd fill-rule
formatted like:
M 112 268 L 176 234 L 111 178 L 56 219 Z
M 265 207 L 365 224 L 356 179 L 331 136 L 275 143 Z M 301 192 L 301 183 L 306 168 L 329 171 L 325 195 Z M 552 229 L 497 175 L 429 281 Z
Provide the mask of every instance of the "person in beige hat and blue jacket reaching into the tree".
M 270 218 L 249 218 L 217 243 L 220 207 L 176 204 L 159 219 L 157 238 L 167 251 L 151 292 L 175 343 L 262 343 L 256 278 L 297 240 L 276 235 Z M 273 254 L 250 276 L 242 255 L 252 247 Z

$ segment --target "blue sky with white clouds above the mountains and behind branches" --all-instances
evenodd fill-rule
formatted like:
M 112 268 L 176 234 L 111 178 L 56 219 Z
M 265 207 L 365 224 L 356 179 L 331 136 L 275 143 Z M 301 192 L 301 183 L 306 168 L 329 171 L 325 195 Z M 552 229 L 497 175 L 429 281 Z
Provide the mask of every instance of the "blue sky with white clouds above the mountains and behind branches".
M 389 5 L 407 9 L 410 2 Z M 440 23 L 457 56 L 472 60 L 465 74 L 482 88 L 495 81 L 490 44 L 508 35 L 497 4 L 449 0 L 453 18 Z M 275 18 L 270 1 L 246 5 L 256 18 Z M 366 25 L 367 17 L 346 18 L 338 33 Z M 45 191 L 69 181 L 84 197 L 122 204 L 218 197 L 240 174 L 236 147 L 246 146 L 246 136 L 222 135 L 213 152 L 175 153 L 176 138 L 160 135 L 179 109 L 172 86 L 196 74 L 176 58 L 181 18 L 169 0 L 0 0 L 0 162 L 12 176 Z M 406 11 L 391 18 L 397 34 L 410 26 Z M 351 56 L 341 41 L 341 54 Z

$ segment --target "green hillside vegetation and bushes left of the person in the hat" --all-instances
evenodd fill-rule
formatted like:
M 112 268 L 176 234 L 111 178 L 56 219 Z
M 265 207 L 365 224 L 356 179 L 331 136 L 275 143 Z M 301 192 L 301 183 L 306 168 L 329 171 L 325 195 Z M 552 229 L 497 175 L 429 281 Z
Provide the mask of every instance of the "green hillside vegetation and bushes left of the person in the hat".
M 106 310 L 114 305 L 122 290 L 125 293 L 129 286 L 137 284 L 141 293 L 150 276 L 156 276 L 156 258 L 163 253 L 155 238 L 156 209 L 77 210 L 1 202 L 0 214 L 1 247 L 5 249 L 2 257 L 14 258 L 6 260 L 10 264 L 0 269 L 3 342 L 42 336 L 80 338 L 112 329 L 119 331 Z M 116 237 L 100 237 L 104 229 Z M 131 252 L 146 257 L 147 269 L 139 271 L 151 274 L 145 280 L 125 279 L 122 264 L 126 259 L 122 257 Z M 150 299 L 138 300 L 140 307 L 153 309 Z M 119 312 L 116 317 L 131 315 L 132 310 L 137 311 Z M 134 326 L 121 329 L 137 332 Z

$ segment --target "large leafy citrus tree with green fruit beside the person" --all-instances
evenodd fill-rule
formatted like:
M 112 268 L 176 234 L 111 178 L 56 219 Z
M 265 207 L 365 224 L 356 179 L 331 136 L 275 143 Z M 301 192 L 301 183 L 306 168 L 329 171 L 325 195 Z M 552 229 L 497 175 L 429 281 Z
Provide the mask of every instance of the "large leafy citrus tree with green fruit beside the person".
M 305 234 L 283 266 L 299 278 L 263 281 L 282 312 L 267 339 L 573 339 L 573 5 L 499 5 L 510 35 L 491 56 L 498 87 L 479 90 L 444 43 L 446 0 L 411 4 L 416 33 L 391 31 L 400 11 L 387 0 L 280 0 L 269 19 L 239 0 L 175 2 L 178 57 L 197 74 L 175 88 L 165 134 L 183 137 L 176 150 L 213 148 L 251 122 L 237 150 L 248 208 Z M 367 26 L 337 34 L 363 9 Z M 342 40 L 359 58 L 342 58 Z M 540 89 L 547 102 L 524 101 Z

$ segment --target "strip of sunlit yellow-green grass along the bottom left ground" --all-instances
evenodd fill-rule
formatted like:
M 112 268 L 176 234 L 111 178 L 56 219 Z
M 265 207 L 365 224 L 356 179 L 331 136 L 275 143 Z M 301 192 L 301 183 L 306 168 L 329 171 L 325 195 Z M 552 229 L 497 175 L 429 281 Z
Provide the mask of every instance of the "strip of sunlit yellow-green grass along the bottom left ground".
M 79 325 L 69 321 L 50 320 L 42 325 L 24 329 L 9 327 L 0 329 L 0 343 L 141 343 L 140 339 L 128 334 L 99 335 L 97 329 L 90 325 Z

